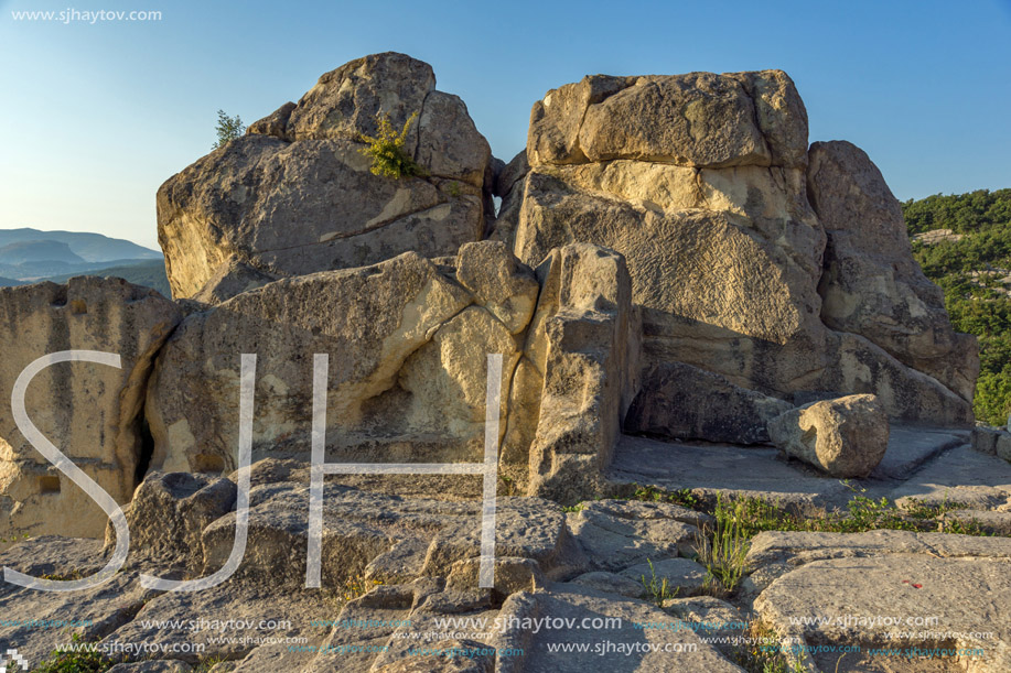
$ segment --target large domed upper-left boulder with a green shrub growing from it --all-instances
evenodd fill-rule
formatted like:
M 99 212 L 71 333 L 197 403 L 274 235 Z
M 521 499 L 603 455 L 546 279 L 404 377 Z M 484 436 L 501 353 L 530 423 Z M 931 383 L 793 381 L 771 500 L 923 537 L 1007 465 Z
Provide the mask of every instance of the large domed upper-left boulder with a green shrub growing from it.
M 372 174 L 363 135 L 376 134 L 377 116 L 399 130 L 415 113 L 405 148 L 426 174 Z M 428 64 L 395 53 L 352 61 L 161 186 L 172 293 L 219 283 L 234 260 L 304 275 L 409 250 L 455 254 L 483 236 L 490 160 L 466 106 L 435 90 Z

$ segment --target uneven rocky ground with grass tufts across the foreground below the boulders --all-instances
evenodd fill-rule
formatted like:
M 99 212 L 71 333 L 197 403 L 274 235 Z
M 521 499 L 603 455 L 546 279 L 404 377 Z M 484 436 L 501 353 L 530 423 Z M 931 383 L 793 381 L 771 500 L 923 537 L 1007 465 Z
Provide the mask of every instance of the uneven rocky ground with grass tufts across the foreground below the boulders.
M 254 466 L 232 579 L 144 589 L 140 573 L 214 572 L 235 525 L 230 481 L 154 474 L 128 512 L 142 551 L 84 594 L 4 585 L 4 623 L 23 623 L 0 647 L 37 664 L 97 643 L 117 672 L 1007 671 L 1011 465 L 967 439 L 895 428 L 878 470 L 841 482 L 772 449 L 625 436 L 625 498 L 499 498 L 494 589 L 476 587 L 473 477 L 330 478 L 324 586 L 303 588 L 308 466 L 277 459 Z M 43 536 L 2 563 L 77 577 L 103 543 Z

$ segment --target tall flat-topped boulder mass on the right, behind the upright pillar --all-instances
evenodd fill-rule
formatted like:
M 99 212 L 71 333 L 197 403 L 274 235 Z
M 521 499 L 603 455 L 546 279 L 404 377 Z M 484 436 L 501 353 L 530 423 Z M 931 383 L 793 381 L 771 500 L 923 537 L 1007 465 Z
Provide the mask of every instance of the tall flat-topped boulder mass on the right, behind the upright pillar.
M 902 240 L 863 262 L 867 269 L 833 265 L 831 249 L 826 256 L 830 237 L 859 239 L 875 226 L 867 214 L 883 182 L 868 177 L 865 166 L 841 171 L 859 177 L 831 177 L 815 150 L 809 172 L 807 115 L 778 70 L 587 77 L 535 104 L 524 159 L 496 186 L 504 202 L 494 237 L 531 264 L 572 241 L 623 254 L 642 310 L 645 367 L 684 362 L 785 400 L 874 393 L 896 420 L 970 423 L 971 337 L 954 335 L 938 291 L 916 270 L 901 214 L 879 236 Z M 816 170 L 852 189 L 832 192 Z M 843 195 L 858 187 L 864 193 L 849 197 L 862 204 L 854 207 Z M 826 193 L 816 203 L 831 210 L 830 226 L 811 207 L 809 189 Z M 869 283 L 849 291 L 846 310 L 854 319 L 822 307 L 822 295 L 861 286 L 870 268 L 883 276 L 893 262 L 895 296 L 926 300 L 896 298 L 883 313 Z M 897 323 L 891 330 L 890 321 Z M 660 409 L 668 393 L 647 386 L 641 400 Z M 697 430 L 671 436 L 733 434 L 706 431 L 734 420 L 695 398 L 701 401 L 686 413 Z

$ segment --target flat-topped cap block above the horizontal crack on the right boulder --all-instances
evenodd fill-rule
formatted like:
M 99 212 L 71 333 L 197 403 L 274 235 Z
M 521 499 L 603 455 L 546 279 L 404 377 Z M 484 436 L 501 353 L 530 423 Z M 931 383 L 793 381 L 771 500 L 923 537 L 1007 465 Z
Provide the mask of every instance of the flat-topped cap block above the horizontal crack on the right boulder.
M 803 161 L 807 149 L 807 113 L 779 70 L 584 77 L 535 104 L 527 148 L 535 165 L 635 159 L 723 167 L 771 165 L 771 144 L 775 165 Z

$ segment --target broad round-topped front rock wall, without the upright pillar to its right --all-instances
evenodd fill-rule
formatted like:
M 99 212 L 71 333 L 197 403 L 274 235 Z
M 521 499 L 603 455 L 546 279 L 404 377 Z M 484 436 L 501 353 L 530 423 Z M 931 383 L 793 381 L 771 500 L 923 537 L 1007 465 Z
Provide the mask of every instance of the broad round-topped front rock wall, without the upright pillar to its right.
M 464 311 L 472 301 L 408 252 L 283 279 L 189 316 L 149 391 L 152 466 L 236 467 L 241 354 L 258 356 L 256 458 L 308 456 L 313 355 L 330 354 L 327 459 L 476 459 L 486 354 L 505 352 L 507 391 L 518 347 L 484 308 Z

